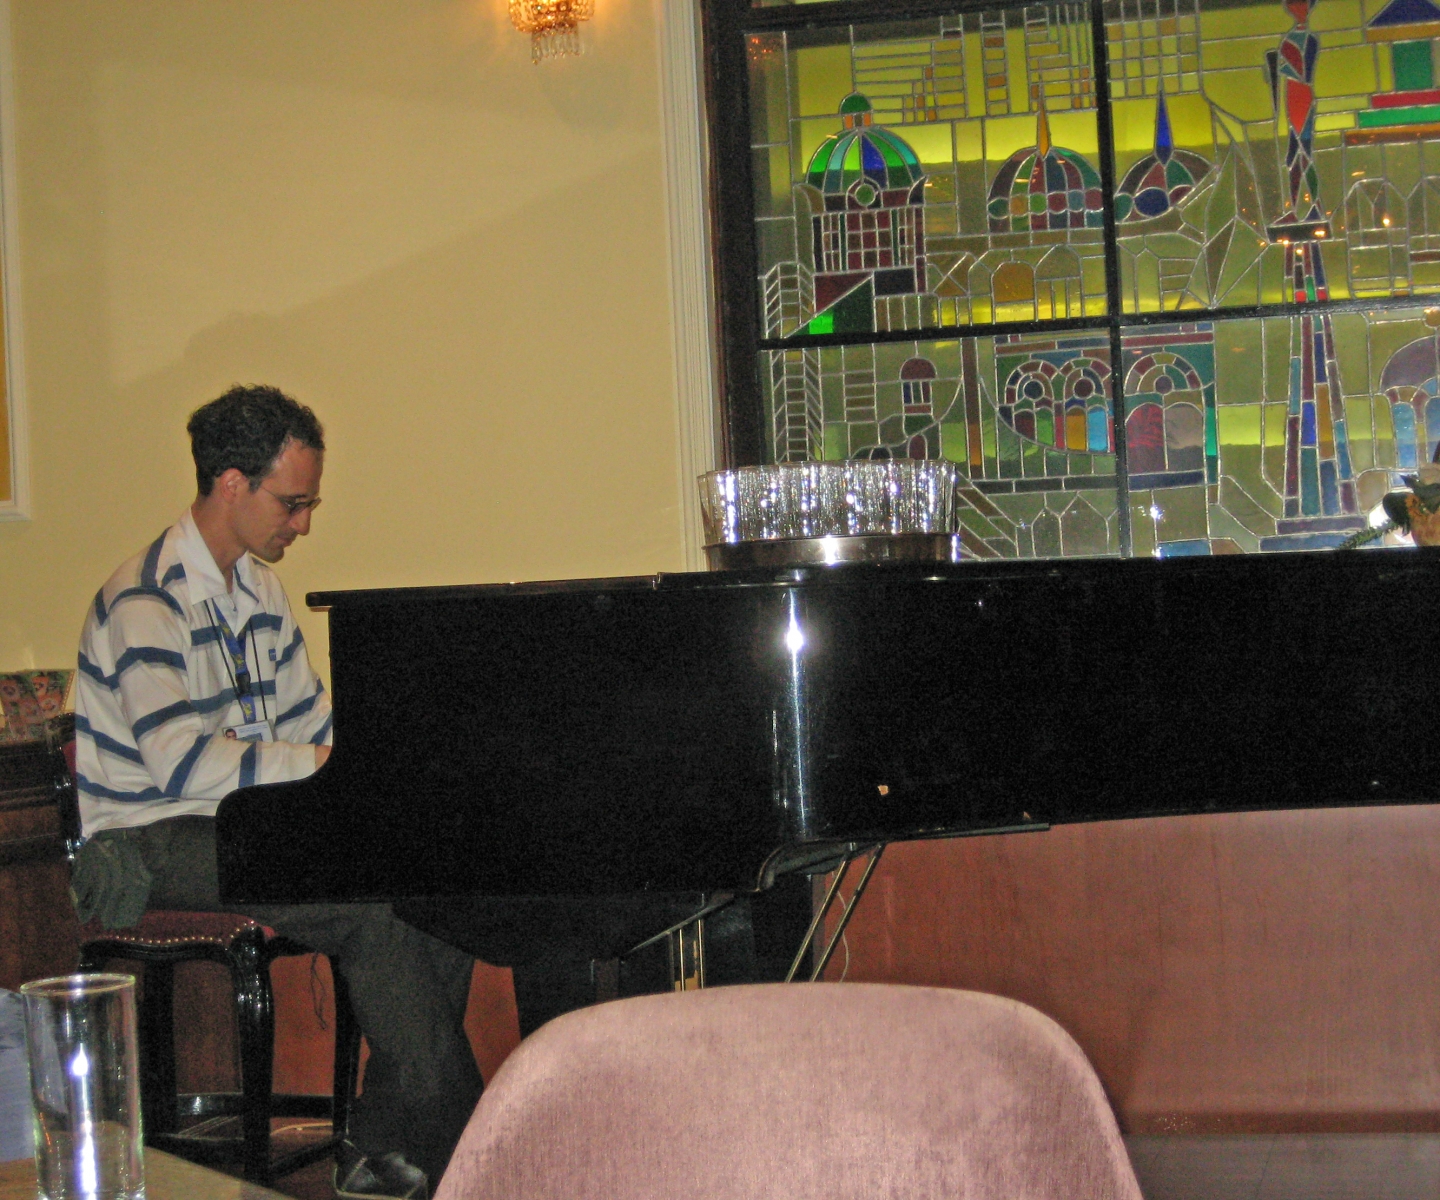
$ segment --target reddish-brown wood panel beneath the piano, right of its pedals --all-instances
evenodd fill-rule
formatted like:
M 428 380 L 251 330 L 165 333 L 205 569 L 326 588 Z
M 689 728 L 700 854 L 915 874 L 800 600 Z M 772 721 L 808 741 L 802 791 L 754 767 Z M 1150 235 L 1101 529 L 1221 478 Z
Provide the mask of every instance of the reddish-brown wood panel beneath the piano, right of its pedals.
M 1434 807 L 910 843 L 857 912 L 848 978 L 1035 1006 L 1129 1132 L 1431 1131 L 1437 897 Z

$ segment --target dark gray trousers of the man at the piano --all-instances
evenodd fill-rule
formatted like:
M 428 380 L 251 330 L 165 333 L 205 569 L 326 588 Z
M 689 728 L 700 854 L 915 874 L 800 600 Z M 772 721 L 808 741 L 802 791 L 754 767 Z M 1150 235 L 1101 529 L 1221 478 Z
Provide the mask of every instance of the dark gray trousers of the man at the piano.
M 367 1154 L 399 1150 L 439 1181 L 481 1091 L 464 1027 L 474 959 L 383 903 L 222 905 L 212 817 L 171 817 L 130 837 L 151 874 L 145 908 L 238 912 L 340 959 L 370 1046 L 350 1138 Z

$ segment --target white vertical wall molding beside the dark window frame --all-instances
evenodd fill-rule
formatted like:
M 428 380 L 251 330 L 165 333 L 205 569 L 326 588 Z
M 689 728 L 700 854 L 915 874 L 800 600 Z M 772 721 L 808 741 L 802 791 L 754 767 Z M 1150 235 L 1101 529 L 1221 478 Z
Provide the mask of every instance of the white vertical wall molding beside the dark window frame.
M 696 478 L 716 468 L 714 290 L 710 279 L 708 138 L 697 0 L 655 0 L 665 153 L 670 323 L 674 344 L 677 467 L 685 569 L 704 570 Z

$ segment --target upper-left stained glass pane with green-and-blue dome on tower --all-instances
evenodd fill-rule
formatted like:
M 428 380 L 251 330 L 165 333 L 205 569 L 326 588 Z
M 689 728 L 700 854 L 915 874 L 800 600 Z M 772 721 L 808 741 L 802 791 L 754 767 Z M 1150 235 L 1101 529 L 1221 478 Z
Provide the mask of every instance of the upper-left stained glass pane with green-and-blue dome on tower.
M 1093 58 L 1060 7 L 753 37 L 765 336 L 1103 314 Z

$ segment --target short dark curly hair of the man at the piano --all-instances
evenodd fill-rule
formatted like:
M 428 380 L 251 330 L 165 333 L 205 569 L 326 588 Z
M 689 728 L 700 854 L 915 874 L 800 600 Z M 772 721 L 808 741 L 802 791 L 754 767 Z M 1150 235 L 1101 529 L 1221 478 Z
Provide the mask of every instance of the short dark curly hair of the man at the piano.
M 279 388 L 264 385 L 242 388 L 236 383 L 190 413 L 186 431 L 202 496 L 209 496 L 216 477 L 230 467 L 245 475 L 255 491 L 291 439 L 315 451 L 325 448 L 325 431 L 315 413 Z

